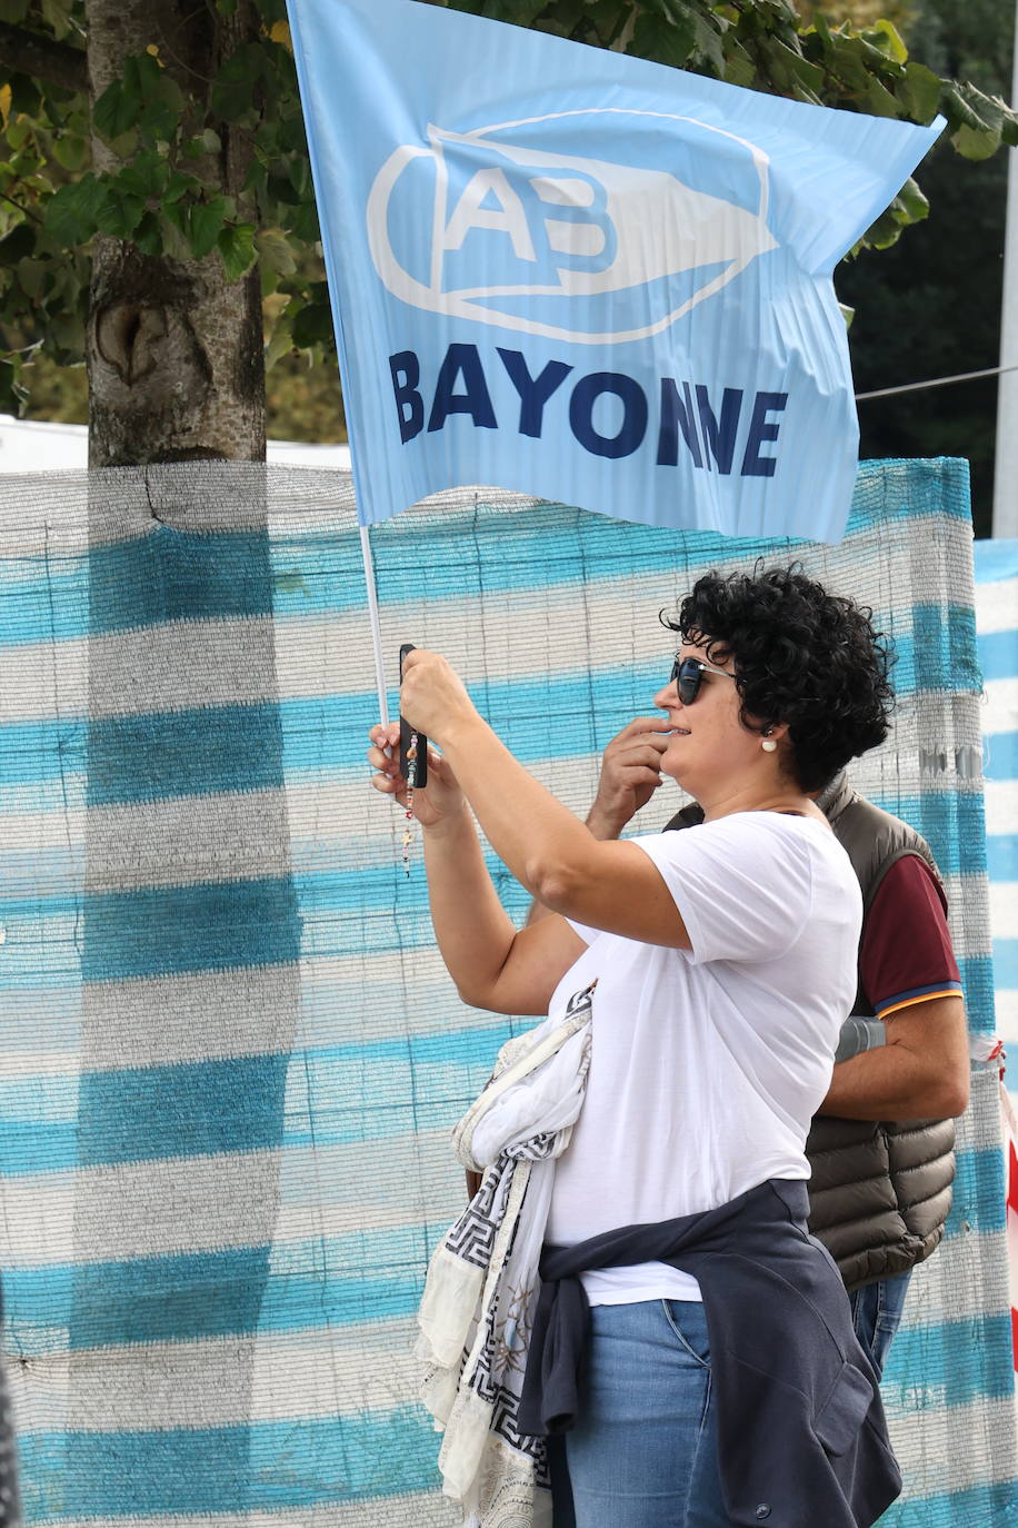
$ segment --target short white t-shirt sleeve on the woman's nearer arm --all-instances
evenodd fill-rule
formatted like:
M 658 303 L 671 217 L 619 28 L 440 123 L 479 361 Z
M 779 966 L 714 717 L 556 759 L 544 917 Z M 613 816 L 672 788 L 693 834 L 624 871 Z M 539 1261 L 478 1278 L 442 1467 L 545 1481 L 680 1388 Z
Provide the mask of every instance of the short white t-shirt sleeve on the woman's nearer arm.
M 693 946 L 693 964 L 768 961 L 795 943 L 812 906 L 801 831 L 733 813 L 681 833 L 630 839 L 658 866 Z

